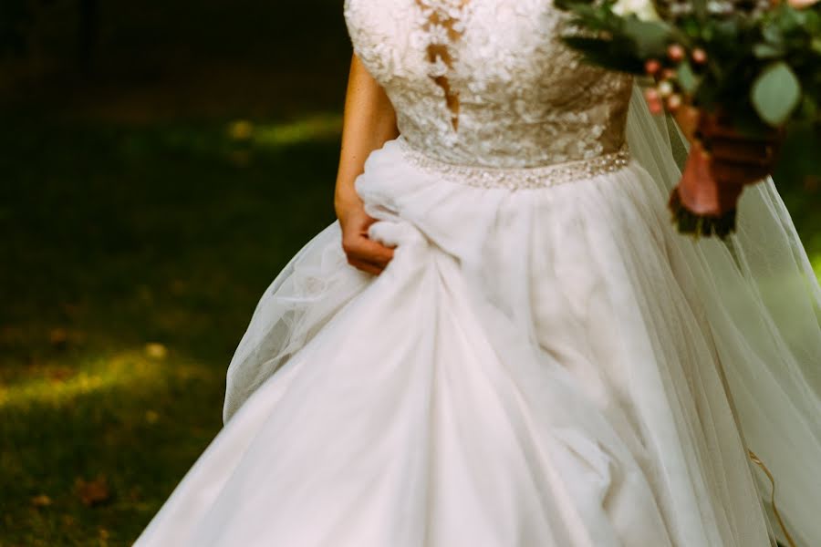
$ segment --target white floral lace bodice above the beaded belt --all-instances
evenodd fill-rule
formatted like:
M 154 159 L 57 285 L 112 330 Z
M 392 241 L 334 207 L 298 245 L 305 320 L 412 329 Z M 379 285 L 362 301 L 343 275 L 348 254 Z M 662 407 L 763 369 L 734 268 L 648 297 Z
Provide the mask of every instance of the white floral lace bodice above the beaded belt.
M 624 142 L 630 78 L 582 64 L 553 0 L 346 0 L 354 50 L 432 159 L 525 168 Z

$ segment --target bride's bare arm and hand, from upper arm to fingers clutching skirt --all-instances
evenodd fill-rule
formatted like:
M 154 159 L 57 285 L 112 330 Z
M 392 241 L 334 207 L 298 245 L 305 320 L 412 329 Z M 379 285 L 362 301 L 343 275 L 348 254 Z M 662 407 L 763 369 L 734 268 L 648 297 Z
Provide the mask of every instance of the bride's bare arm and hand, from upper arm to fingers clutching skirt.
M 365 170 L 370 152 L 398 135 L 396 112 L 388 96 L 354 55 L 345 99 L 334 208 L 348 263 L 369 274 L 379 274 L 393 258 L 393 250 L 368 238 L 368 227 L 375 220 L 365 212 L 354 181 Z

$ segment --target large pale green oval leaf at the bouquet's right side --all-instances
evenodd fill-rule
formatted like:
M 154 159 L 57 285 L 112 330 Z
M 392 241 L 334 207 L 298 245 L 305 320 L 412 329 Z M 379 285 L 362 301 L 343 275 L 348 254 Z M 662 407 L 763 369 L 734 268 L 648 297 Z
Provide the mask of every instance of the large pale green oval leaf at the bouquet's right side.
M 751 98 L 761 119 L 780 126 L 801 100 L 801 83 L 785 62 L 773 63 L 755 78 Z

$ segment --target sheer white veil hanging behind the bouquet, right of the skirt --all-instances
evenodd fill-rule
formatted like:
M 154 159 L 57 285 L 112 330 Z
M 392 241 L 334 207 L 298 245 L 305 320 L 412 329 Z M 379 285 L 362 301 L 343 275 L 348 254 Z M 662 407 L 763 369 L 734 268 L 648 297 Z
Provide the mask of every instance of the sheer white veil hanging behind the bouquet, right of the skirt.
M 668 195 L 687 145 L 675 122 L 650 114 L 638 86 L 628 139 Z M 748 187 L 739 211 L 727 243 L 673 236 L 674 264 L 706 307 L 746 448 L 773 473 L 776 506 L 793 539 L 814 545 L 821 538 L 821 289 L 772 179 Z M 761 470 L 757 477 L 769 503 L 773 486 Z

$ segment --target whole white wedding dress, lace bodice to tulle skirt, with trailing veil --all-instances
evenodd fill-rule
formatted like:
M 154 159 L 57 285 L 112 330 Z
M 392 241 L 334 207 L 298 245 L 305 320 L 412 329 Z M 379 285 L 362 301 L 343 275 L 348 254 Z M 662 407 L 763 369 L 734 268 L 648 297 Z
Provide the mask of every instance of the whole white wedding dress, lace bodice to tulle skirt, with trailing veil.
M 821 291 L 773 182 L 729 243 L 675 232 L 673 131 L 551 0 L 345 15 L 398 113 L 356 181 L 395 258 L 334 223 L 276 277 L 137 545 L 764 547 L 748 450 L 821 545 Z

